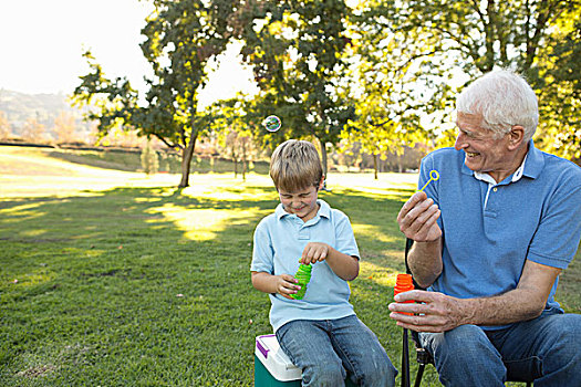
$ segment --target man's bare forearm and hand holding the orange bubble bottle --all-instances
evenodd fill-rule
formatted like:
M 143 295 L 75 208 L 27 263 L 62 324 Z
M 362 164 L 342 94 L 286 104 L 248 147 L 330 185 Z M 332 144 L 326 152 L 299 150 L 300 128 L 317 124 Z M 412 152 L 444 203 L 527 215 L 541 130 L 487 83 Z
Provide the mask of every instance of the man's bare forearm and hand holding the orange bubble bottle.
M 515 290 L 481 299 L 456 299 L 442 293 L 411 291 L 395 300 L 423 304 L 390 304 L 397 325 L 418 332 L 446 332 L 459 325 L 504 325 L 539 316 L 561 269 L 527 261 Z M 405 315 L 395 312 L 416 313 Z

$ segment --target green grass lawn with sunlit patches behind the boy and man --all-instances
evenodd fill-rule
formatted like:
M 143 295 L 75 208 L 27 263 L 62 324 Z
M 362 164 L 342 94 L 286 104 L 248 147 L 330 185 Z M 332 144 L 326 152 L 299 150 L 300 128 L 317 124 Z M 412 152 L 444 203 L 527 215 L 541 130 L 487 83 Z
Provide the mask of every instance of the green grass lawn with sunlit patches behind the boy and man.
M 253 384 L 255 337 L 271 332 L 249 273 L 253 229 L 278 202 L 266 175 L 194 174 L 179 190 L 177 175 L 2 147 L 0 174 L 1 386 Z M 414 181 L 332 175 L 321 194 L 353 223 L 362 271 L 351 301 L 397 368 L 386 304 L 404 271 L 395 216 Z M 577 313 L 579 259 L 558 292 Z M 433 367 L 424 379 L 439 386 Z

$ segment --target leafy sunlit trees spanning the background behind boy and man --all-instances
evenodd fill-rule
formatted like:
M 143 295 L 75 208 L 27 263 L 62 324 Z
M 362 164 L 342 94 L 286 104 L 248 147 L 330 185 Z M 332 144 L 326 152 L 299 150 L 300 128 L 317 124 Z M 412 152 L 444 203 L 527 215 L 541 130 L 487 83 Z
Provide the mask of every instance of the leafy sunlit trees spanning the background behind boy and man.
M 453 137 L 454 96 L 468 80 L 497 67 L 522 73 L 539 95 L 536 140 L 544 150 L 581 157 L 581 0 L 155 0 L 142 51 L 153 69 L 139 94 L 124 77 L 110 80 L 90 52 L 90 73 L 75 90 L 92 104 L 104 136 L 137 129 L 181 151 L 180 187 L 188 186 L 196 140 L 214 132 L 238 144 L 272 149 L 288 138 L 357 146 L 376 158 L 415 143 Z M 241 43 L 259 93 L 205 111 L 199 92 L 208 64 Z M 260 127 L 268 115 L 278 133 Z M 232 143 L 234 142 L 234 143 Z M 255 149 L 256 150 L 256 149 Z

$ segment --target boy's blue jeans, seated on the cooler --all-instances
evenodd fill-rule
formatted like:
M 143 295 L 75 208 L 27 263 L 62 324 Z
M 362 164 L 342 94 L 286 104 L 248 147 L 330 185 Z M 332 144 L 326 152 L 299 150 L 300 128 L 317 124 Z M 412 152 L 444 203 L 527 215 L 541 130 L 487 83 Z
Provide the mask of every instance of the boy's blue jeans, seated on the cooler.
M 297 320 L 277 331 L 280 347 L 302 368 L 303 386 L 344 386 L 349 373 L 359 386 L 394 386 L 394 368 L 377 336 L 355 315 Z

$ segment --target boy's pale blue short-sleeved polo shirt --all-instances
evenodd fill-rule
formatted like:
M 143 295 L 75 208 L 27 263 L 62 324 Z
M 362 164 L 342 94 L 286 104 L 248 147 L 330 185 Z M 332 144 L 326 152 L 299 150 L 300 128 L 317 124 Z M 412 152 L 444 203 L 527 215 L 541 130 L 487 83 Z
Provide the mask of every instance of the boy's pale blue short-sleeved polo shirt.
M 255 231 L 251 271 L 273 275 L 294 275 L 299 259 L 309 242 L 324 242 L 347 255 L 357 257 L 359 249 L 346 215 L 332 209 L 319 199 L 321 206 L 313 219 L 303 222 L 279 205 L 263 218 Z M 270 324 L 274 332 L 293 320 L 334 320 L 354 314 L 349 302 L 351 291 L 346 281 L 340 279 L 323 262 L 313 264 L 311 281 L 302 300 L 288 300 L 270 294 Z

